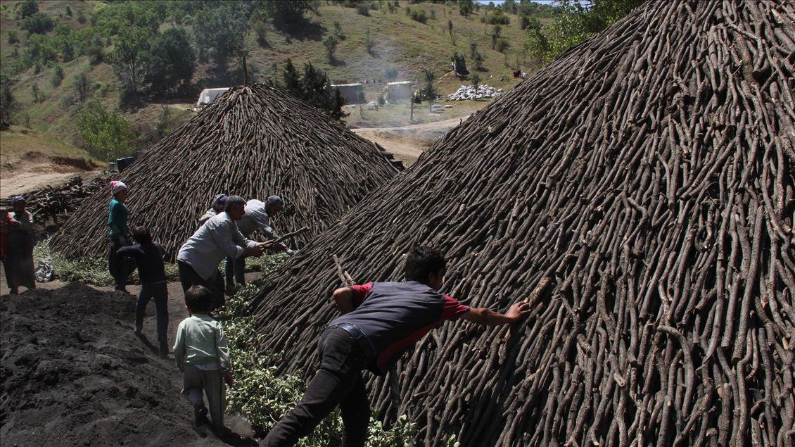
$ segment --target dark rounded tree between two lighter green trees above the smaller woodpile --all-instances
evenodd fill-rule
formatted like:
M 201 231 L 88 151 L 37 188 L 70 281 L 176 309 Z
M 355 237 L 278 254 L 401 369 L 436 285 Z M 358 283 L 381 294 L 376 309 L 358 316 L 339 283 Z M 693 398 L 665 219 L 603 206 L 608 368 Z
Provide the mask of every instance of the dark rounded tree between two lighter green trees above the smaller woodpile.
M 148 91 L 163 93 L 189 84 L 196 69 L 196 52 L 188 32 L 181 27 L 166 29 L 152 40 L 142 61 Z

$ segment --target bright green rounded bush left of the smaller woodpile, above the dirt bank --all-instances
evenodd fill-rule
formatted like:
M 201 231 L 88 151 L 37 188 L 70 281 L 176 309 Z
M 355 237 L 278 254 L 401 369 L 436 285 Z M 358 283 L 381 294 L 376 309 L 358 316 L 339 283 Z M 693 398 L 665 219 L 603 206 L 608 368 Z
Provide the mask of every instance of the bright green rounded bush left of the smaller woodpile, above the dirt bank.
M 130 123 L 117 112 L 108 112 L 102 103 L 92 103 L 77 115 L 77 129 L 83 147 L 93 157 L 115 160 L 129 155 L 135 141 Z

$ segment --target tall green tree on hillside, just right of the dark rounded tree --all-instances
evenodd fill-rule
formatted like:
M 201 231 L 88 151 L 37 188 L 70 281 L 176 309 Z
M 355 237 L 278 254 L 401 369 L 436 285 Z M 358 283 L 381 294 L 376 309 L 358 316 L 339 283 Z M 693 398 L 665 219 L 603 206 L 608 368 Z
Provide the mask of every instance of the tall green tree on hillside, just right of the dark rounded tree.
M 292 2 L 267 2 L 292 3 Z M 241 2 L 222 2 L 208 8 L 192 21 L 200 60 L 210 56 L 220 72 L 227 72 L 229 59 L 242 55 L 248 33 L 250 11 Z

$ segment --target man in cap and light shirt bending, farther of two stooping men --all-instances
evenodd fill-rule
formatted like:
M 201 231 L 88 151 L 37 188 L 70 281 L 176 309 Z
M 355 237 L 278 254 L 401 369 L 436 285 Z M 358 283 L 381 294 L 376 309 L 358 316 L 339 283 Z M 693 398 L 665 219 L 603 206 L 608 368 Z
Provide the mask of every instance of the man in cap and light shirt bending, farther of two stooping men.
M 238 230 L 240 230 L 240 233 L 246 238 L 250 237 L 254 231 L 259 230 L 260 234 L 266 239 L 279 239 L 279 235 L 270 225 L 270 219 L 278 216 L 283 207 L 284 204 L 279 196 L 269 196 L 264 202 L 257 199 L 247 201 L 246 213 L 237 221 Z M 291 256 L 295 253 L 295 251 L 290 250 L 284 244 L 281 244 L 281 249 Z M 234 269 L 232 266 L 234 266 Z M 234 282 L 232 282 L 231 270 L 234 270 L 235 282 L 238 283 L 238 286 L 246 284 L 245 269 L 245 258 L 227 258 L 227 289 L 231 289 L 235 286 Z

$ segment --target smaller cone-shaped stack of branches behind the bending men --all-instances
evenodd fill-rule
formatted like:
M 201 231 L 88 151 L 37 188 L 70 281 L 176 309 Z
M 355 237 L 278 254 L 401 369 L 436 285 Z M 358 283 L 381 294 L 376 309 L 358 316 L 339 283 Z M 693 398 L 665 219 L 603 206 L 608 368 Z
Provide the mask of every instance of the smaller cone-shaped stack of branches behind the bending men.
M 169 257 L 196 231 L 215 194 L 285 208 L 275 220 L 302 247 L 375 186 L 403 169 L 380 146 L 272 87 L 231 88 L 118 176 L 129 193 L 130 225 L 144 224 Z M 73 258 L 107 250 L 110 189 L 91 196 L 52 248 Z

